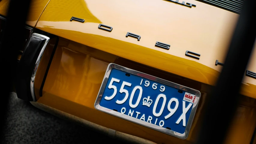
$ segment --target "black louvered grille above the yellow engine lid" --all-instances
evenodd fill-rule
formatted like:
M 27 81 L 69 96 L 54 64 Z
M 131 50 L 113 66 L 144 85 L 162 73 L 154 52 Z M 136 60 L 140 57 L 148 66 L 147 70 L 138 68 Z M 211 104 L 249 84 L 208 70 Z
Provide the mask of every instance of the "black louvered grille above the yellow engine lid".
M 233 13 L 240 14 L 244 0 L 197 0 L 206 4 L 213 5 L 215 7 L 222 8 L 224 10 L 231 11 Z

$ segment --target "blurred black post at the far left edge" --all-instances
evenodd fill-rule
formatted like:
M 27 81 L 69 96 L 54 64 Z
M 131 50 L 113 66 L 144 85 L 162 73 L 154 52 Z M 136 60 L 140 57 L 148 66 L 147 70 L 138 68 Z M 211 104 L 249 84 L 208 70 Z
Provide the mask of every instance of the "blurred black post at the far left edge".
M 0 132 L 5 123 L 6 108 L 9 92 L 11 91 L 16 71 L 17 55 L 19 48 L 23 45 L 24 27 L 31 0 L 11 0 L 9 3 L 7 21 L 2 35 L 0 45 Z

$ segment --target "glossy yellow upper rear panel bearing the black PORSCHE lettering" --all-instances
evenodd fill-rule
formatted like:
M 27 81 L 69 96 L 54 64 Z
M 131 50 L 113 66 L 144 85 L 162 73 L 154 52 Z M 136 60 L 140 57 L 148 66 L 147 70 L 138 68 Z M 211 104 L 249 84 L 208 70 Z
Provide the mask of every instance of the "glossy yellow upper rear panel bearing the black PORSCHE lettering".
M 215 85 L 224 63 L 238 14 L 199 1 L 188 8 L 164 0 L 51 0 L 36 28 L 189 79 Z M 71 17 L 85 22 L 70 21 Z M 112 32 L 98 29 L 102 23 Z M 140 35 L 140 41 L 125 35 Z M 155 47 L 155 42 L 170 49 Z M 186 50 L 200 59 L 185 56 Z M 254 58 L 256 53 L 253 53 Z M 253 57 L 252 57 L 253 58 Z M 248 69 L 256 72 L 255 61 Z M 243 80 L 241 94 L 256 98 L 256 79 Z

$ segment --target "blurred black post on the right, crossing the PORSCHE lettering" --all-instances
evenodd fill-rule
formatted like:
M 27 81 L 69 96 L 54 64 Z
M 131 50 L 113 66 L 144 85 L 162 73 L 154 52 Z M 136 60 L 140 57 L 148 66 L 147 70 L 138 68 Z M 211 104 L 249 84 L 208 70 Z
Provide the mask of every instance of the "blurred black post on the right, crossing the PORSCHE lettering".
M 256 1 L 245 0 L 230 43 L 225 65 L 207 96 L 199 144 L 223 143 L 236 111 L 239 90 L 256 35 Z

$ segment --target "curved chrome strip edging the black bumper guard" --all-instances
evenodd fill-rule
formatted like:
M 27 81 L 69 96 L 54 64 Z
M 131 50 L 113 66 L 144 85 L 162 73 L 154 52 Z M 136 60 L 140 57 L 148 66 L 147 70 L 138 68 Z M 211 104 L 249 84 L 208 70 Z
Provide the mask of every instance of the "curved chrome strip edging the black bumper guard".
M 42 49 L 38 55 L 38 58 L 36 60 L 36 63 L 35 63 L 35 67 L 34 67 L 34 70 L 33 70 L 33 73 L 32 73 L 32 76 L 31 76 L 31 81 L 30 81 L 30 91 L 31 91 L 31 95 L 32 95 L 32 98 L 33 98 L 33 101 L 37 101 L 36 99 L 36 96 L 35 96 L 35 90 L 34 90 L 34 83 L 35 83 L 35 75 L 36 75 L 36 72 L 37 72 L 37 69 L 38 69 L 38 66 L 40 64 L 40 61 L 41 61 L 41 58 L 44 54 L 44 50 L 50 40 L 49 37 L 45 36 L 45 35 L 40 35 L 40 34 L 37 34 L 37 33 L 33 33 L 31 36 L 37 36 L 37 37 L 42 37 L 42 38 L 45 38 L 45 42 L 42 46 Z

